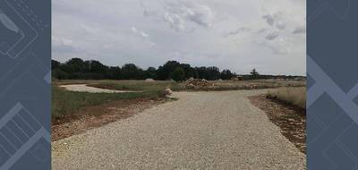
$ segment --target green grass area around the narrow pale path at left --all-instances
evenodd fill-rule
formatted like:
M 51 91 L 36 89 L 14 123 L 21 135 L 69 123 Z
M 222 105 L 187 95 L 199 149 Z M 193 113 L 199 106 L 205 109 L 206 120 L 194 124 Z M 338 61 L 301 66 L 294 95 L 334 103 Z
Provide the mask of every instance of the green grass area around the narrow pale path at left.
M 64 84 L 89 84 L 106 89 L 139 90 L 138 93 L 89 93 L 68 91 L 60 88 Z M 70 115 L 82 107 L 96 106 L 110 101 L 133 98 L 166 98 L 164 89 L 179 89 L 172 81 L 54 81 L 52 86 L 52 118 Z

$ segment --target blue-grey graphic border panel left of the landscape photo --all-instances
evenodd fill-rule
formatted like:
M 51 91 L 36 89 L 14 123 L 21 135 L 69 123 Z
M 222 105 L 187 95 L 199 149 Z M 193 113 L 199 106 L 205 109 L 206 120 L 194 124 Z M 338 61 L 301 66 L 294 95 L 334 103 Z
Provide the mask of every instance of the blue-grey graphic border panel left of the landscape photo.
M 51 168 L 51 1 L 0 0 L 0 170 Z

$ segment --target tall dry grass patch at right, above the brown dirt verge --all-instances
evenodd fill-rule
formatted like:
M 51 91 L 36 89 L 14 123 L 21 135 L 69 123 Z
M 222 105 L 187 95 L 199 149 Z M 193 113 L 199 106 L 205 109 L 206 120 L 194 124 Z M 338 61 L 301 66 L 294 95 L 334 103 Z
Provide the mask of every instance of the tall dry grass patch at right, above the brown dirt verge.
M 268 98 L 276 98 L 288 104 L 306 107 L 306 88 L 305 87 L 285 87 L 268 91 Z

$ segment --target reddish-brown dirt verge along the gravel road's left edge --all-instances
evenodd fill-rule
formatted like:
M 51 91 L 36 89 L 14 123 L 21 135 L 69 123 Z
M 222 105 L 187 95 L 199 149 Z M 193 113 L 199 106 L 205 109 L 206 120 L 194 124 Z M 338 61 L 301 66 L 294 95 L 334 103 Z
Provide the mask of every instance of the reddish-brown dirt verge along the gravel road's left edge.
M 167 98 L 136 98 L 84 107 L 79 112 L 64 115 L 52 121 L 52 140 L 61 140 L 107 123 L 128 118 L 167 100 Z

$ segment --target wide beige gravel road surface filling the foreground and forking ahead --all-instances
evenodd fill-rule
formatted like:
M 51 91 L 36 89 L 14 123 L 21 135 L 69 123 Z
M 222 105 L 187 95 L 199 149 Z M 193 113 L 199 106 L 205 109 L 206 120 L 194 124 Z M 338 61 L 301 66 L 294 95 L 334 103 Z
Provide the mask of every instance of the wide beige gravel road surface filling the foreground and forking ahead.
M 305 155 L 246 98 L 267 90 L 177 92 L 177 101 L 53 142 L 53 169 L 305 169 Z

